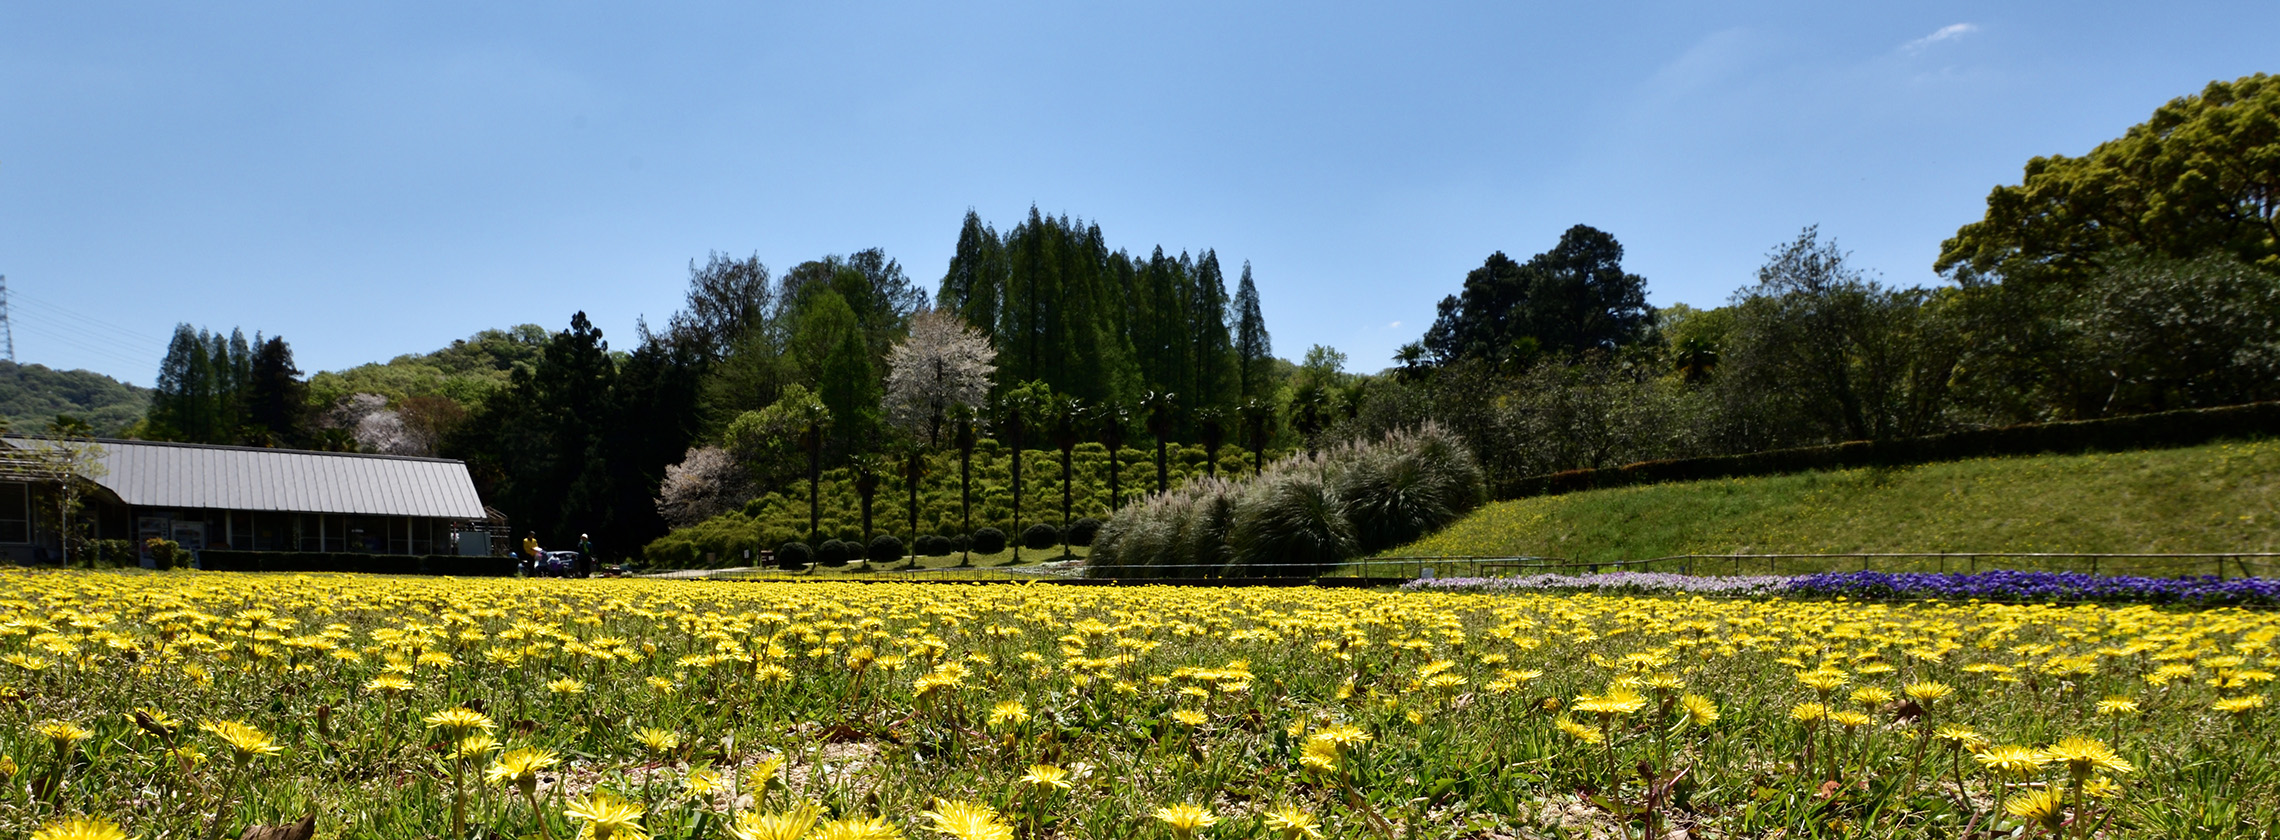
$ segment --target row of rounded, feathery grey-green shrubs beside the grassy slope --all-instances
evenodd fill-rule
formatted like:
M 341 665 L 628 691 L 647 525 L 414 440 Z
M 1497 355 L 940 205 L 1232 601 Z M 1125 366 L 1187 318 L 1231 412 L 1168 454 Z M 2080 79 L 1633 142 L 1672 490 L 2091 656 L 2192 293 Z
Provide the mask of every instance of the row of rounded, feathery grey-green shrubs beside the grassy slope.
M 1480 461 L 1427 422 L 1263 475 L 1195 479 L 1126 507 L 1094 539 L 1094 578 L 1313 578 L 1480 507 Z

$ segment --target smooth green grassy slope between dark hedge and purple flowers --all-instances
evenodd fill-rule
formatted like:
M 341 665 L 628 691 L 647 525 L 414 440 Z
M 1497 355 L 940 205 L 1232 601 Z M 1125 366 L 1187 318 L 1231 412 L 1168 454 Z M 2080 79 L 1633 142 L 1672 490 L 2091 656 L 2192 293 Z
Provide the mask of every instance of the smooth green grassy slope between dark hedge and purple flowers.
M 1389 555 L 2280 550 L 2280 441 L 1689 482 L 1489 504 Z

